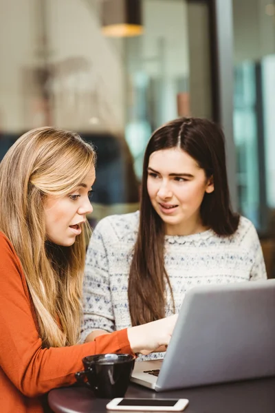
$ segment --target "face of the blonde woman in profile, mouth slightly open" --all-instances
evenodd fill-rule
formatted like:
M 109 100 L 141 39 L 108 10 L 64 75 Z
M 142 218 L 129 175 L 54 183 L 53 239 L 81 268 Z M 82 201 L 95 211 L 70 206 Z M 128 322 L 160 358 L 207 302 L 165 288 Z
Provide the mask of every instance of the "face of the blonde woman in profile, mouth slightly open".
M 93 211 L 89 201 L 96 178 L 94 167 L 74 191 L 56 198 L 48 195 L 44 203 L 47 239 L 54 244 L 71 246 L 83 230 L 87 213 Z

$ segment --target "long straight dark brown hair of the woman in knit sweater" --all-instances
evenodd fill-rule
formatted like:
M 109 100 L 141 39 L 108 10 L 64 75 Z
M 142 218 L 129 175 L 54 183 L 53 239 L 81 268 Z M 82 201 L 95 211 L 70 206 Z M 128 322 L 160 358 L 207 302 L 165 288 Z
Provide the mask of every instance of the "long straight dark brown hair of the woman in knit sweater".
M 221 128 L 202 118 L 179 118 L 157 129 L 144 154 L 140 225 L 129 273 L 129 308 L 133 326 L 165 316 L 166 285 L 173 291 L 164 265 L 164 222 L 151 204 L 147 191 L 148 162 L 151 153 L 179 147 L 212 176 L 214 191 L 205 193 L 201 220 L 217 235 L 232 235 L 239 215 L 232 212 L 225 166 L 225 140 Z M 175 310 L 175 304 L 174 304 Z

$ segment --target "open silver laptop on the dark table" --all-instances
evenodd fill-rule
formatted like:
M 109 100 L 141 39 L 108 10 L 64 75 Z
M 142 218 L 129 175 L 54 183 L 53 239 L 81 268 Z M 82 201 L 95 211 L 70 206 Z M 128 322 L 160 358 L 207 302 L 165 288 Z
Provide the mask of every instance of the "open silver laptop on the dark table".
M 186 293 L 163 360 L 131 381 L 157 392 L 275 375 L 275 279 Z

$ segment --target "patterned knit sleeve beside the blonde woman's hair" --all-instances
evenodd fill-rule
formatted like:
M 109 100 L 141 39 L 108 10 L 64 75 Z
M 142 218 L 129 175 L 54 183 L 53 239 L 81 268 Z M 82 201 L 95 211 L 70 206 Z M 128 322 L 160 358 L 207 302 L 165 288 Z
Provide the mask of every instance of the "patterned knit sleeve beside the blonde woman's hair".
M 87 249 L 85 279 L 83 283 L 83 314 L 81 339 L 85 341 L 94 330 L 115 330 L 115 317 L 109 281 L 109 259 L 104 243 L 109 222 L 104 218 L 91 235 Z

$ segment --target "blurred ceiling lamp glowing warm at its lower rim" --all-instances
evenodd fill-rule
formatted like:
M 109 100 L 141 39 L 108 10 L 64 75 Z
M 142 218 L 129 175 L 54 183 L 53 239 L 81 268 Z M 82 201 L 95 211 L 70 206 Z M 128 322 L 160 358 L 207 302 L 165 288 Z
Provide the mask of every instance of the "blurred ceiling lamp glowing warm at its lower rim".
M 102 2 L 102 32 L 105 36 L 140 36 L 142 0 L 104 0 Z

